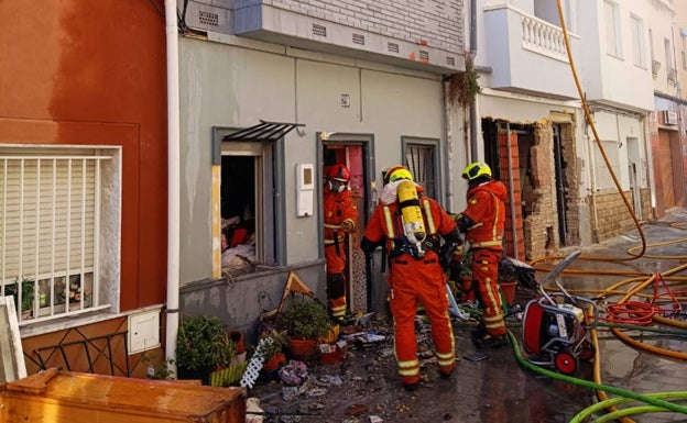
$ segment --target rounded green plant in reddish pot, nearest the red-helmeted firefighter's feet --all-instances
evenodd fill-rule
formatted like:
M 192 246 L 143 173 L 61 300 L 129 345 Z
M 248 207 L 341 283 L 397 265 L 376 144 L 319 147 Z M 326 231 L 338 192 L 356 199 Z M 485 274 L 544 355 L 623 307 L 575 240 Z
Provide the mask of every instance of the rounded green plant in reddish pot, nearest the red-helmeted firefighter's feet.
M 315 355 L 317 341 L 331 330 L 329 313 L 323 303 L 310 298 L 294 298 L 282 313 L 281 326 L 290 336 L 288 346 L 294 358 L 307 360 Z

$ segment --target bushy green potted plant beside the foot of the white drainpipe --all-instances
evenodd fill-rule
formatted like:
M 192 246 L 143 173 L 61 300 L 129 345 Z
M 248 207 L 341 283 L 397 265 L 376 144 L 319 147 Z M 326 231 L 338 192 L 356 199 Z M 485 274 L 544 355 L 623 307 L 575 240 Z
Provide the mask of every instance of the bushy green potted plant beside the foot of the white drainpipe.
M 182 319 L 176 337 L 176 365 L 179 379 L 200 379 L 210 385 L 210 374 L 232 364 L 235 343 L 216 316 Z

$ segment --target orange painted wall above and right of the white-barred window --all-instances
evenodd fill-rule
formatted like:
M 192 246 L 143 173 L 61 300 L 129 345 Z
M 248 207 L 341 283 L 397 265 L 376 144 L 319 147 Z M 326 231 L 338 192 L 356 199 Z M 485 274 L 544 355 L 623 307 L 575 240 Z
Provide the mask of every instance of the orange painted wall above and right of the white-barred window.
M 121 310 L 164 302 L 163 0 L 0 1 L 0 143 L 121 145 Z

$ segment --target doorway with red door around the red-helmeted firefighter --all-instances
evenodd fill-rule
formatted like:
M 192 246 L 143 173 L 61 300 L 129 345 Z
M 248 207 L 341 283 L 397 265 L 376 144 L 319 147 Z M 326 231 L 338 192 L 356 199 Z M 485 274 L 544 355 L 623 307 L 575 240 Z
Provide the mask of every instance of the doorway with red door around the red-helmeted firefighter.
M 337 163 L 346 165 L 351 172 L 349 187 L 358 207 L 358 224 L 356 231 L 347 237 L 346 245 L 347 304 L 351 313 L 366 312 L 370 310 L 372 285 L 369 282 L 364 254 L 360 249 L 360 238 L 370 215 L 371 192 L 367 187 L 370 186 L 369 175 L 371 175 L 370 166 L 372 166 L 369 153 L 372 148 L 372 136 L 323 132 L 318 134 L 318 140 L 320 141 L 318 156 L 321 159 L 319 168 L 323 171 L 320 180 L 324 182 L 326 169 Z M 320 211 L 321 203 L 320 194 Z M 321 212 L 319 214 L 323 215 Z M 321 233 L 320 240 L 324 240 Z M 323 242 L 320 243 L 320 257 L 324 256 Z

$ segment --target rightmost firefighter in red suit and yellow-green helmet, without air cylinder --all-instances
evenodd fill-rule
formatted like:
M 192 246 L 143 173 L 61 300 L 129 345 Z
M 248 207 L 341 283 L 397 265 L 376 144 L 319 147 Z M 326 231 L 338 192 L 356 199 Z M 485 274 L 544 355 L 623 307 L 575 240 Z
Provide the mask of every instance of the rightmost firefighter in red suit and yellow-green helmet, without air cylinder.
M 492 179 L 491 168 L 476 162 L 462 171 L 468 181 L 468 205 L 455 216 L 472 253 L 472 290 L 482 304 L 482 322 L 472 332 L 478 348 L 499 348 L 508 343 L 503 305 L 499 293 L 499 260 L 503 255 L 505 186 Z

